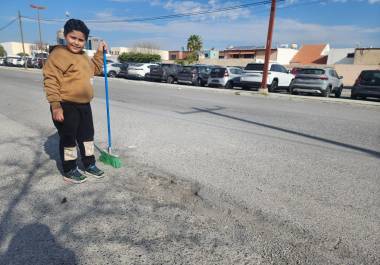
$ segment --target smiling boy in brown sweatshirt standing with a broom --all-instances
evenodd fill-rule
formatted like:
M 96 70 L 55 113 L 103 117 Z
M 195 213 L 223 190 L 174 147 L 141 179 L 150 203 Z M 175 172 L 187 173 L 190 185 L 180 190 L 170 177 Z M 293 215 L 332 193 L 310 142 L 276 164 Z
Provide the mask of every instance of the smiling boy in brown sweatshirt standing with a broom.
M 102 73 L 104 42 L 90 58 L 83 48 L 90 30 L 81 20 L 70 19 L 64 26 L 66 46 L 56 46 L 43 68 L 44 88 L 55 127 L 60 137 L 59 150 L 64 180 L 86 181 L 86 175 L 103 177 L 95 165 L 94 125 L 90 101 L 93 98 L 93 76 Z M 77 167 L 78 144 L 84 174 Z

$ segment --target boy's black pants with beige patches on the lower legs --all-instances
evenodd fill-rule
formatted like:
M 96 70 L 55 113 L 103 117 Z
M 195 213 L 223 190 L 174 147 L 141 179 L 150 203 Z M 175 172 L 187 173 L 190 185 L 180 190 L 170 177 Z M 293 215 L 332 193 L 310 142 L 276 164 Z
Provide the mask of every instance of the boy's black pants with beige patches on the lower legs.
M 90 103 L 79 104 L 61 102 L 63 122 L 54 121 L 59 134 L 59 153 L 63 171 L 66 173 L 77 167 L 78 145 L 85 168 L 95 164 L 94 124 Z

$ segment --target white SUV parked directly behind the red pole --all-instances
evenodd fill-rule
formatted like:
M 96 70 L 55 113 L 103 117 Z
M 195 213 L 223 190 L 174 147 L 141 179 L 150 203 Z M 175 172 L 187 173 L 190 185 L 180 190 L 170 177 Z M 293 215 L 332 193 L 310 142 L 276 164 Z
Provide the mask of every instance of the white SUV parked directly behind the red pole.
M 293 80 L 294 75 L 280 64 L 270 63 L 268 69 L 267 86 L 270 92 L 274 92 L 279 88 L 289 89 L 290 82 Z M 259 88 L 263 78 L 263 70 L 263 63 L 247 64 L 240 79 L 243 88 Z

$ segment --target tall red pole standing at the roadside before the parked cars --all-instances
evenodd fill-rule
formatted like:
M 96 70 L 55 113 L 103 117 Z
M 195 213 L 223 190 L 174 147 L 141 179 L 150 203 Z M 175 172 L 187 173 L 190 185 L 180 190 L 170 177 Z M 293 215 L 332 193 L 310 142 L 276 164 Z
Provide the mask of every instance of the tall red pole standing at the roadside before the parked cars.
M 270 8 L 270 17 L 269 17 L 269 27 L 267 35 L 267 45 L 265 49 L 265 61 L 264 61 L 264 71 L 263 79 L 261 81 L 261 87 L 259 89 L 260 93 L 268 94 L 267 80 L 268 80 L 268 66 L 272 50 L 272 35 L 273 35 L 273 26 L 274 26 L 274 17 L 276 15 L 276 0 L 272 0 L 272 5 Z

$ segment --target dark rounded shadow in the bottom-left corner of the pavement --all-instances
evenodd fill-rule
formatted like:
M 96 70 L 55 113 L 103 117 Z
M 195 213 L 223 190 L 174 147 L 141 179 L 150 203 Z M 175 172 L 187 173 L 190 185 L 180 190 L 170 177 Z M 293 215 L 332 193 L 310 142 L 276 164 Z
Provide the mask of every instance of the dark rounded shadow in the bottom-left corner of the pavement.
M 77 264 L 75 252 L 58 244 L 47 225 L 24 226 L 12 238 L 8 250 L 0 256 L 2 265 Z

